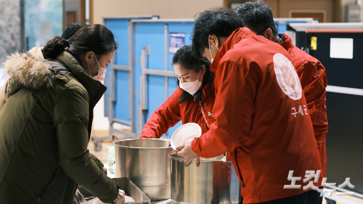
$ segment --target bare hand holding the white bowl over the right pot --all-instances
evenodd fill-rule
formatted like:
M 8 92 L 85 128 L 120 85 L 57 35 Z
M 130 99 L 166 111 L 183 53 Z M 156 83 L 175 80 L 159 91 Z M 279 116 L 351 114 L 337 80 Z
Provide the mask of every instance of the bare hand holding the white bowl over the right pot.
M 196 160 L 196 166 L 199 167 L 199 164 L 200 164 L 198 154 L 196 154 L 192 149 L 193 140 L 194 139 L 187 140 L 182 145 L 178 146 L 175 149 L 176 155 L 182 156 L 182 158 L 180 158 L 180 162 L 187 160 L 187 162 L 185 162 L 185 165 L 184 165 L 185 167 L 188 167 L 190 165 L 190 163 L 193 162 L 194 158 Z

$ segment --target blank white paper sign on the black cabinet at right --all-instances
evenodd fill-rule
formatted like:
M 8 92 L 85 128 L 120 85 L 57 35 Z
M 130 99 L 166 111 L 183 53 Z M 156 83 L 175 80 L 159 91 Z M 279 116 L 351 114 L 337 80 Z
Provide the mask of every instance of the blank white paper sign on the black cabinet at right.
M 353 38 L 330 38 L 330 58 L 353 59 Z

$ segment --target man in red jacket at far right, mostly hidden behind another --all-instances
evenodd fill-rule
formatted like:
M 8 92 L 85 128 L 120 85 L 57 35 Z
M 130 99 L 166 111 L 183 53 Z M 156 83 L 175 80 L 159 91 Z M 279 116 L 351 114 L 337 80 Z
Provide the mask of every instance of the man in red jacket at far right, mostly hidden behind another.
M 293 46 L 290 36 L 286 33 L 277 34 L 272 10 L 263 2 L 246 2 L 238 6 L 235 12 L 241 18 L 245 27 L 257 35 L 279 43 L 291 56 L 292 64 L 298 73 L 301 86 L 309 109 L 310 120 L 314 129 L 317 147 L 322 163 L 322 176 L 325 177 L 327 156 L 325 149 L 325 135 L 328 132 L 328 118 L 326 113 L 327 75 L 323 64 Z

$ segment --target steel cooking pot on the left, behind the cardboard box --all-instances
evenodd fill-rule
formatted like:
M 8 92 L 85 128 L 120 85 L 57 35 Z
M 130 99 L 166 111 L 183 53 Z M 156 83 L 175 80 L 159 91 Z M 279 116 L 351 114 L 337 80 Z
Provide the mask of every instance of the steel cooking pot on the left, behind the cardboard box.
M 114 141 L 116 176 L 128 177 L 151 200 L 170 198 L 170 140 Z

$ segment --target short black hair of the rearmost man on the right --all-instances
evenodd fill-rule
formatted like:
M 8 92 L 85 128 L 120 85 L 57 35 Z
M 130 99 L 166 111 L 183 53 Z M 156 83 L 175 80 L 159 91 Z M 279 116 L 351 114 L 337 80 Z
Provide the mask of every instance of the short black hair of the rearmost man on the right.
M 277 36 L 273 13 L 262 0 L 245 2 L 235 9 L 237 15 L 241 18 L 243 25 L 260 35 L 266 29 L 271 29 L 274 36 Z

